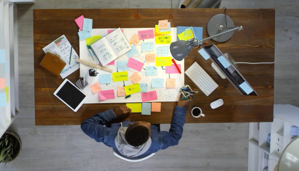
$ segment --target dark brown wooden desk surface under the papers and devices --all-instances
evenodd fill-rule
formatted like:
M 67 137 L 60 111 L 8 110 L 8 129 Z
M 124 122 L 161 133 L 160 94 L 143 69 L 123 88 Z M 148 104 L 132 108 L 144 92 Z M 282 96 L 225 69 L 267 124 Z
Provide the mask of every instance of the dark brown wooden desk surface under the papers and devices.
M 206 25 L 208 20 L 223 9 L 35 9 L 33 11 L 34 32 L 34 92 L 36 125 L 79 125 L 84 119 L 122 104 L 84 104 L 73 112 L 64 105 L 53 92 L 62 83 L 39 66 L 45 55 L 42 48 L 65 34 L 79 54 L 78 27 L 74 19 L 80 15 L 93 19 L 93 28 L 142 28 L 154 27 L 158 20 L 168 19 L 171 27 L 203 27 L 203 37 L 208 37 Z M 210 43 L 223 53 L 230 53 L 239 62 L 274 61 L 274 9 L 227 9 L 227 15 L 236 26 L 244 30 L 235 31 L 233 37 L 225 43 L 212 40 Z M 20 56 L 21 57 L 21 56 Z M 203 69 L 219 84 L 210 96 L 201 90 L 185 75 L 185 84 L 198 90 L 197 99 L 187 107 L 186 123 L 207 122 L 271 122 L 273 120 L 274 64 L 248 65 L 239 64 L 238 69 L 251 84 L 259 96 L 242 96 L 229 83 L 222 79 L 211 67 L 210 60 L 204 60 L 197 52 L 185 58 L 185 69 L 197 61 Z M 79 69 L 67 78 L 73 83 L 79 77 Z M 210 102 L 222 98 L 224 105 L 211 109 Z M 176 102 L 162 102 L 161 113 L 152 112 L 151 116 L 133 113 L 131 121 L 151 123 L 170 123 Z M 205 117 L 194 118 L 190 114 L 193 106 L 202 108 Z

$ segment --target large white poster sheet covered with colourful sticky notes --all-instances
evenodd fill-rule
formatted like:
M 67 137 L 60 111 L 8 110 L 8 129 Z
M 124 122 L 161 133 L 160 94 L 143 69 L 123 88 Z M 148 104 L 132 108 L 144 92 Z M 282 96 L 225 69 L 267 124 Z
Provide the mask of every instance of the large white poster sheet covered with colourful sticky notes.
M 91 36 L 101 35 L 104 37 L 108 34 L 108 30 L 115 29 L 92 29 Z M 171 42 L 165 41 L 166 44 L 155 43 L 156 36 L 152 34 L 155 32 L 155 28 L 121 29 L 123 29 L 123 34 L 126 40 L 129 40 L 132 49 L 118 57 L 114 65 L 105 66 L 112 69 L 113 73 L 97 69 L 99 74 L 96 77 L 90 77 L 88 74 L 90 67 L 80 63 L 80 76 L 85 77 L 89 85 L 99 82 L 100 92 L 111 91 L 109 97 L 100 95 L 99 98 L 99 92 L 93 93 L 91 87 L 87 86 L 83 89 L 88 96 L 85 103 L 178 101 L 179 89 L 184 86 L 184 60 L 176 60 L 181 69 L 181 74 L 179 74 L 171 61 L 172 55 L 169 50 L 170 43 L 177 40 L 177 29 L 171 28 L 170 34 L 162 37 L 162 39 L 167 40 L 171 38 Z M 138 40 L 138 36 L 142 36 L 142 40 Z M 88 54 L 86 40 L 81 40 L 80 59 L 95 64 L 99 63 Z M 110 97 L 113 95 L 112 90 L 114 91 L 114 99 Z M 131 94 L 131 97 L 125 99 L 126 94 Z

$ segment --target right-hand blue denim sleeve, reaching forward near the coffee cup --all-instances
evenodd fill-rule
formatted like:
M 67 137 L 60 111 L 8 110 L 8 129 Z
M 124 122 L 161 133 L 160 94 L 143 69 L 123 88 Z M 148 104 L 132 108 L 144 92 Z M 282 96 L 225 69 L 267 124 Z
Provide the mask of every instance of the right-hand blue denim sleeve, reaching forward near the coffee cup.
M 161 131 L 159 133 L 159 136 L 161 137 L 160 149 L 167 149 L 169 146 L 175 146 L 179 144 L 179 140 L 183 134 L 183 126 L 185 122 L 186 107 L 176 106 L 170 123 L 169 132 Z

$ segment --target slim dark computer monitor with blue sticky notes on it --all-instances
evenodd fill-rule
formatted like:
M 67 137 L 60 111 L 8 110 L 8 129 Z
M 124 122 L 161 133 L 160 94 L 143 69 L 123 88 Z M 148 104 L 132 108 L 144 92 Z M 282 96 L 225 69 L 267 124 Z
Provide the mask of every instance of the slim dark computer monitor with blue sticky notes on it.
M 234 62 L 230 61 L 225 55 L 223 55 L 214 44 L 202 46 L 202 49 L 210 56 L 213 64 L 216 65 L 216 67 L 223 75 L 225 75 L 228 81 L 231 82 L 240 94 L 257 96 L 257 93 L 237 70 Z

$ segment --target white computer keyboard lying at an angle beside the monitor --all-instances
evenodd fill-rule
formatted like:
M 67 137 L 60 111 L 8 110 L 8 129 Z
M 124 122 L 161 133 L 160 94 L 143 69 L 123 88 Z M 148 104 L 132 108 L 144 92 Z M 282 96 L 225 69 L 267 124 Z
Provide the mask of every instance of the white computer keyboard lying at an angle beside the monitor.
M 185 74 L 197 85 L 197 87 L 209 96 L 217 87 L 218 84 L 210 77 L 210 75 L 202 69 L 197 62 L 194 62 L 186 71 Z

